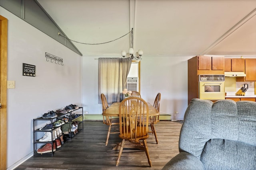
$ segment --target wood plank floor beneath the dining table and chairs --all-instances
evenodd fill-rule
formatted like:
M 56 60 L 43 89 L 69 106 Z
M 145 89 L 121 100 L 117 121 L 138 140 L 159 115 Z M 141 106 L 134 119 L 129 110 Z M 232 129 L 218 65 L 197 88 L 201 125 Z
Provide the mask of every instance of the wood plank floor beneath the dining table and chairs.
M 124 149 L 116 167 L 118 150 L 112 148 L 121 140 L 110 134 L 105 146 L 108 126 L 102 121 L 84 121 L 84 130 L 54 152 L 54 156 L 32 156 L 16 170 L 160 170 L 176 154 L 182 121 L 160 121 L 155 125 L 158 144 L 154 135 L 147 139 L 152 167 L 144 150 Z

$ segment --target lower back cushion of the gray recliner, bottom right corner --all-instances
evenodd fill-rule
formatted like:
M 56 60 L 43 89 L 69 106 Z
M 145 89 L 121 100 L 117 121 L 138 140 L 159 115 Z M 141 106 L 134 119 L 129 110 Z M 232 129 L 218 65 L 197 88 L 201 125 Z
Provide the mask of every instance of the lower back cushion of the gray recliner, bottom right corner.
M 209 140 L 201 161 L 206 170 L 255 170 L 256 146 L 224 139 Z

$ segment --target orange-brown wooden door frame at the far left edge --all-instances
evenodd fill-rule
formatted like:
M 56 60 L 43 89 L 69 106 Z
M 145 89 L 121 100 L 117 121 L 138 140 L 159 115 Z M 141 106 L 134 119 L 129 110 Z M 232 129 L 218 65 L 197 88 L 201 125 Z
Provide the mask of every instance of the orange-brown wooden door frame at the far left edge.
M 0 16 L 0 169 L 6 169 L 7 156 L 7 31 L 8 20 Z

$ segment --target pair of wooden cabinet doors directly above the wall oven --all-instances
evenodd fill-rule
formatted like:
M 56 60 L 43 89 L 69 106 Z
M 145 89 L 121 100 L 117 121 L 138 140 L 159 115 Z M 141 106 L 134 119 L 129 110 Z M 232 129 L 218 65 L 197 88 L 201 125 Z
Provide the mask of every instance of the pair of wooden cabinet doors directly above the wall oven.
M 224 57 L 198 56 L 198 70 L 224 70 Z

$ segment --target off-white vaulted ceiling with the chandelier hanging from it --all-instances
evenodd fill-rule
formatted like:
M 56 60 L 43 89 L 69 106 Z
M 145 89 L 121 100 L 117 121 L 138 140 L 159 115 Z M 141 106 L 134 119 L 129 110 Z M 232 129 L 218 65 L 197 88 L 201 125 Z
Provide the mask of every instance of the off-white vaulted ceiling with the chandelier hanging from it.
M 128 51 L 132 28 L 146 55 L 256 56 L 256 0 L 37 1 L 83 56 Z

